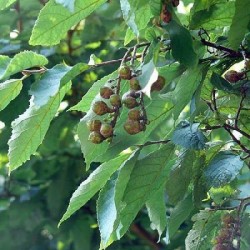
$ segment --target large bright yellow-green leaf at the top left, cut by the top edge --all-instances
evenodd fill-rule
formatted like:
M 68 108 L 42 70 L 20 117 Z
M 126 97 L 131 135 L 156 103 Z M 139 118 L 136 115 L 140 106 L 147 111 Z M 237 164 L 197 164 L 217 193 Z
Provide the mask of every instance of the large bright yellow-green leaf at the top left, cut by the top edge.
M 51 46 L 58 44 L 66 32 L 86 18 L 106 0 L 76 0 L 75 10 L 71 13 L 54 0 L 49 1 L 41 10 L 30 37 L 30 45 Z

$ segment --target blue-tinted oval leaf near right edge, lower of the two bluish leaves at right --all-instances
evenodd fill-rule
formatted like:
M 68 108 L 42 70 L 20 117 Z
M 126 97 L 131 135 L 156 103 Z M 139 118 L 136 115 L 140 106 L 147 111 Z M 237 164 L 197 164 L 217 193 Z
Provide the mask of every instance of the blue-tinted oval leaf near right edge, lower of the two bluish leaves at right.
M 239 155 L 234 155 L 229 151 L 218 153 L 205 170 L 207 185 L 220 187 L 231 182 L 239 174 L 243 164 Z

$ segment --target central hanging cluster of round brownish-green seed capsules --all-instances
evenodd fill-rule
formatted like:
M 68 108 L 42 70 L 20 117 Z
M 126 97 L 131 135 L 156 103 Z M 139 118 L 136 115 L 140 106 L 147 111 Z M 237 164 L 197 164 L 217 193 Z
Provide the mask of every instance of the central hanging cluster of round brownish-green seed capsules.
M 100 88 L 99 94 L 103 100 L 94 102 L 92 111 L 98 116 L 109 114 L 110 119 L 104 119 L 104 121 L 96 119 L 87 123 L 90 131 L 89 140 L 95 144 L 102 143 L 105 140 L 112 140 L 116 120 L 122 106 L 129 109 L 127 120 L 123 125 L 128 134 L 135 135 L 145 131 L 148 123 L 144 107 L 142 107 L 143 104 L 140 101 L 143 93 L 138 79 L 133 76 L 132 70 L 127 65 L 122 65 L 118 70 L 118 74 L 120 80 L 129 80 L 129 91 L 121 97 L 116 91 L 117 86 Z M 165 79 L 158 76 L 158 79 L 152 84 L 151 91 L 160 91 L 164 85 Z

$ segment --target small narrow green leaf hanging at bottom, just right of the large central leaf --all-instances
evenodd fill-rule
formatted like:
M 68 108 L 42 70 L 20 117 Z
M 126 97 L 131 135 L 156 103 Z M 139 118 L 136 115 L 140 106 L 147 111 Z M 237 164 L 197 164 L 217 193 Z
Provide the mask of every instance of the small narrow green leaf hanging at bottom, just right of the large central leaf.
M 151 221 L 151 228 L 157 230 L 159 234 L 158 240 L 160 240 L 161 235 L 167 226 L 167 208 L 164 185 L 149 198 L 146 202 L 146 207 Z

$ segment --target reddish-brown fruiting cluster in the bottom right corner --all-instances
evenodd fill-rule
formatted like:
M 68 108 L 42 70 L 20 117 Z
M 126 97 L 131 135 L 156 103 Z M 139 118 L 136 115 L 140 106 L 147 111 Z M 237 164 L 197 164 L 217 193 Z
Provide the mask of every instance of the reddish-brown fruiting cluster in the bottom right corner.
M 227 214 L 222 218 L 222 229 L 216 237 L 215 250 L 235 249 L 233 240 L 238 235 L 237 220 L 232 214 Z

